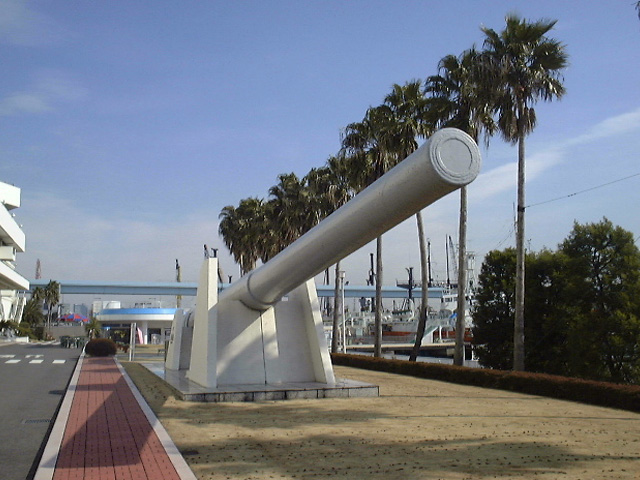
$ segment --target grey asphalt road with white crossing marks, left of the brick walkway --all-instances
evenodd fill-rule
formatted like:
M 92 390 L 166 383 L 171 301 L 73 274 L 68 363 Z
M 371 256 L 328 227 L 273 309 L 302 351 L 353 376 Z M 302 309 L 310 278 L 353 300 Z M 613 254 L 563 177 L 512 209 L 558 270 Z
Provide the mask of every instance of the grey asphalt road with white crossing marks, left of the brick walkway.
M 60 345 L 0 346 L 0 475 L 31 479 L 62 401 L 79 349 Z

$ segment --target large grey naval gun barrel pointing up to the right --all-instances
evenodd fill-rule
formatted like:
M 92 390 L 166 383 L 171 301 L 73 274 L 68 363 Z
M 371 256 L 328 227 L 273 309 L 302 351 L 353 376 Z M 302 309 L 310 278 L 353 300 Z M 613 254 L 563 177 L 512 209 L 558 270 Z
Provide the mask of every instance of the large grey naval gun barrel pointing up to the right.
M 220 294 L 266 310 L 283 295 L 436 200 L 471 183 L 480 171 L 473 139 L 455 128 L 434 133 L 377 181 Z

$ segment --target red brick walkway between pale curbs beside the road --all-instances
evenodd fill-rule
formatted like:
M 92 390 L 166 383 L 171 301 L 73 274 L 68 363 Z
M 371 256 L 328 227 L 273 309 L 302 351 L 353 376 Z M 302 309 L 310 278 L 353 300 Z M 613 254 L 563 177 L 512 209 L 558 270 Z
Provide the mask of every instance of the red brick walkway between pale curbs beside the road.
M 113 358 L 84 359 L 53 478 L 180 479 Z

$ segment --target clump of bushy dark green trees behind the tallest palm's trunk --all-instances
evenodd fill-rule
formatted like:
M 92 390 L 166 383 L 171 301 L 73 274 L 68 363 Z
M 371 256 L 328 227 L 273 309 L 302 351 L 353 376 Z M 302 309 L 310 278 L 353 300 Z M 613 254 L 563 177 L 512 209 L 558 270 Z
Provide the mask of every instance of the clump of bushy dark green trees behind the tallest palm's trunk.
M 526 362 L 532 371 L 640 383 L 640 251 L 606 218 L 576 223 L 557 252 L 526 257 Z M 512 367 L 514 249 L 492 251 L 479 277 L 474 344 L 480 362 Z

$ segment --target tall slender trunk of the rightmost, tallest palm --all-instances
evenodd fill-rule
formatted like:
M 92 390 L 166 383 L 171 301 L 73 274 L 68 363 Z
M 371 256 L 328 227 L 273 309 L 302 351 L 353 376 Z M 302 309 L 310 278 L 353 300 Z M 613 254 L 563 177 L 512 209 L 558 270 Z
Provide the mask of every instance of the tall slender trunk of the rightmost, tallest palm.
M 516 223 L 516 312 L 513 325 L 513 369 L 524 371 L 524 128 L 523 115 L 520 114 L 518 139 L 518 213 Z

